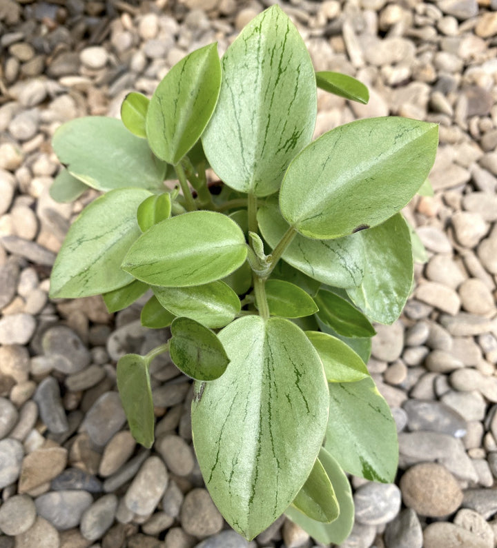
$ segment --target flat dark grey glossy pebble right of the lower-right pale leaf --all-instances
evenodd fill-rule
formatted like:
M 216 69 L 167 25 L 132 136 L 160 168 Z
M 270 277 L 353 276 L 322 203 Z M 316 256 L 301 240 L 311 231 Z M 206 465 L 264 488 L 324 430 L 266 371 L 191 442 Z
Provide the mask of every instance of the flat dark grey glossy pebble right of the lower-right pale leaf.
M 407 400 L 403 408 L 407 412 L 409 430 L 424 430 L 449 434 L 461 438 L 466 433 L 466 420 L 458 412 L 436 400 Z

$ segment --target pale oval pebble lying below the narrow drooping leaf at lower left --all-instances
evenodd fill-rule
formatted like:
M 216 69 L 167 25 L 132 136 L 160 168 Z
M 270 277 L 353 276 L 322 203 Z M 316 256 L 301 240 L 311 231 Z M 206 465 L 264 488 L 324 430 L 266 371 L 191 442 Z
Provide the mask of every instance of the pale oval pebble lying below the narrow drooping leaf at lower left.
M 149 457 L 126 491 L 126 507 L 134 514 L 148 516 L 159 504 L 167 483 L 168 474 L 162 460 L 157 456 Z

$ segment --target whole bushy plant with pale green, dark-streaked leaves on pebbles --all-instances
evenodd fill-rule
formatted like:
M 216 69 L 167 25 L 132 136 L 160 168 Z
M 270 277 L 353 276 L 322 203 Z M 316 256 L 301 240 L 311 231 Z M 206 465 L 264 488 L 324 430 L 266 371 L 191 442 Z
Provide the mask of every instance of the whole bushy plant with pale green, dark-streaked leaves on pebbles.
M 365 119 L 312 141 L 317 85 L 368 101 L 355 79 L 315 73 L 273 6 L 221 60 L 207 45 L 150 100 L 129 94 L 122 121 L 76 119 L 53 139 L 66 169 L 52 197 L 106 194 L 70 227 L 51 295 L 103 294 L 115 312 L 151 290 L 142 323 L 172 336 L 117 363 L 131 432 L 153 445 L 149 366 L 169 352 L 195 379 L 206 486 L 249 539 L 286 513 L 340 543 L 353 524 L 345 473 L 391 482 L 397 468 L 396 426 L 365 363 L 371 321 L 395 321 L 411 290 L 400 210 L 427 179 L 438 128 Z

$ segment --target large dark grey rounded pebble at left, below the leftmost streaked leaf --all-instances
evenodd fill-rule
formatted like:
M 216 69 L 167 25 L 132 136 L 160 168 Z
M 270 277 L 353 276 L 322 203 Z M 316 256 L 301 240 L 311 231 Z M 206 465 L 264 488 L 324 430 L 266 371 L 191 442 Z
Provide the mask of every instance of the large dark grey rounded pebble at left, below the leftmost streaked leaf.
M 84 369 L 91 360 L 91 354 L 81 338 L 65 325 L 55 325 L 46 330 L 41 338 L 46 356 L 55 358 L 54 367 L 67 375 Z

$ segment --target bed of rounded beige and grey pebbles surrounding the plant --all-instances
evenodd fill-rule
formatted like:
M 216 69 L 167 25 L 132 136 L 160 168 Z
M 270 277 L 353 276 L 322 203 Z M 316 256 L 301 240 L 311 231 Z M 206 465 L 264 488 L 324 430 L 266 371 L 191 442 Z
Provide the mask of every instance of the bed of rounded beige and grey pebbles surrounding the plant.
M 154 363 L 152 450 L 126 429 L 124 352 L 163 331 L 100 298 L 48 299 L 75 205 L 50 199 L 62 122 L 117 116 L 186 52 L 223 52 L 271 1 L 0 0 L 0 548 L 313 547 L 280 519 L 253 542 L 228 529 L 191 447 L 191 386 Z M 435 196 L 405 211 L 429 261 L 371 374 L 398 423 L 396 485 L 351 478 L 347 548 L 497 546 L 497 3 L 293 0 L 317 70 L 369 85 L 369 105 L 319 95 L 317 134 L 365 116 L 440 123 Z M 117 166 L 118 168 L 118 166 Z M 70 356 L 70 359 L 68 359 Z M 150 478 L 153 478 L 150 481 Z

